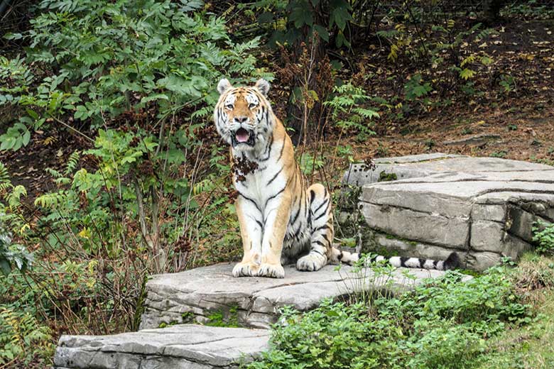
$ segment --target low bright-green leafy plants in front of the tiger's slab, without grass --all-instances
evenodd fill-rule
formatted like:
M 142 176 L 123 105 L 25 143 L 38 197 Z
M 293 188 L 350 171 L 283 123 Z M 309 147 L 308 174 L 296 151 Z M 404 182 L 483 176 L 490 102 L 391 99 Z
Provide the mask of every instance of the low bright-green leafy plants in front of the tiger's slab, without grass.
M 286 308 L 270 351 L 249 368 L 472 368 L 487 338 L 531 318 L 505 270 L 462 276 L 447 272 L 371 308 L 328 300 L 305 314 Z

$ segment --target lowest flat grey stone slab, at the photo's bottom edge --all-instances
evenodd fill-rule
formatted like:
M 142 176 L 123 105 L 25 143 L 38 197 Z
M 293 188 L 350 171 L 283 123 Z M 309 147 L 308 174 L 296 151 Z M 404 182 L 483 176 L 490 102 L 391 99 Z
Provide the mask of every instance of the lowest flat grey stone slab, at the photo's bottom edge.
M 236 368 L 268 345 L 265 329 L 180 324 L 113 336 L 62 336 L 53 369 Z

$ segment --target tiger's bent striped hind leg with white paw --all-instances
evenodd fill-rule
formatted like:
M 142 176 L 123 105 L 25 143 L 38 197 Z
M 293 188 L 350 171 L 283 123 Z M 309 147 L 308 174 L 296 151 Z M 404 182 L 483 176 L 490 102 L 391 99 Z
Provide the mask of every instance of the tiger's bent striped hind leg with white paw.
M 310 252 L 299 258 L 296 269 L 313 272 L 327 264 L 332 254 L 333 214 L 331 196 L 322 184 L 313 184 L 306 190 L 310 199 L 308 224 L 311 224 Z

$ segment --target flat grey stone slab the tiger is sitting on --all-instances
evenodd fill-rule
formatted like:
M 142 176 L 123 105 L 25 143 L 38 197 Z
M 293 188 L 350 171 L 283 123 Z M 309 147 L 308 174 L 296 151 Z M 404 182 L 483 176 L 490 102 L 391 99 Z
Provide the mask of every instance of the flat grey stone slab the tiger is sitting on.
M 393 272 L 390 280 L 377 278 L 365 268 L 327 265 L 317 272 L 299 272 L 285 266 L 285 278 L 232 277 L 234 263 L 222 263 L 185 272 L 155 275 L 146 283 L 146 299 L 141 329 L 156 328 L 162 323 L 197 321 L 205 323 L 210 316 L 249 327 L 266 328 L 278 318 L 278 309 L 293 305 L 305 311 L 318 306 L 325 297 L 340 298 L 361 290 L 401 292 L 413 288 L 426 277 L 438 277 L 438 270 L 405 270 Z M 406 271 L 415 279 L 406 277 Z

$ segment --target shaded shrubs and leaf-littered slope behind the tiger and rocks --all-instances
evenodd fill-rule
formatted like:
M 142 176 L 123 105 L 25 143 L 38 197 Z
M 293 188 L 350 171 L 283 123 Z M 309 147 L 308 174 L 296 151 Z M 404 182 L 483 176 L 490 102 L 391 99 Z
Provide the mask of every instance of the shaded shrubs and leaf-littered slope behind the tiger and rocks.
M 273 82 L 331 189 L 376 156 L 554 160 L 552 1 L 0 4 L 0 365 L 136 329 L 148 275 L 237 258 L 222 77 Z

